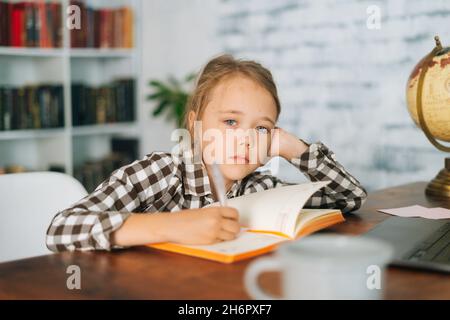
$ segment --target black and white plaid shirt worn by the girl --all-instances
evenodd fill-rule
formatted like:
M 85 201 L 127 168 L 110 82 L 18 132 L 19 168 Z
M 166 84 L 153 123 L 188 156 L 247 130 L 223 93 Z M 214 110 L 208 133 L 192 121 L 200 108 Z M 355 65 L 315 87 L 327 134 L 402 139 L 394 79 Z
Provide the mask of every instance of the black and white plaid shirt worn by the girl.
M 331 180 L 305 207 L 337 208 L 350 212 L 361 207 L 366 190 L 321 142 L 312 143 L 291 163 L 311 181 Z M 267 172 L 254 172 L 236 181 L 228 198 L 286 185 Z M 213 203 L 204 165 L 165 152 L 153 152 L 115 170 L 91 194 L 53 218 L 46 244 L 52 251 L 121 248 L 111 245 L 113 231 L 132 213 L 201 208 Z

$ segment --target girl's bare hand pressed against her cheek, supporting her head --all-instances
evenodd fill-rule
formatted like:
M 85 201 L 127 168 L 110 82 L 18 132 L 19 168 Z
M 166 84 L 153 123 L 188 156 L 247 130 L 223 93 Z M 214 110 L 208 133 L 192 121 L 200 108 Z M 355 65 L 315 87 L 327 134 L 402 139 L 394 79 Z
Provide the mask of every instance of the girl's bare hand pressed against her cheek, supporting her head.
M 271 131 L 271 135 L 270 157 L 280 156 L 290 161 L 300 157 L 309 147 L 294 134 L 278 127 Z

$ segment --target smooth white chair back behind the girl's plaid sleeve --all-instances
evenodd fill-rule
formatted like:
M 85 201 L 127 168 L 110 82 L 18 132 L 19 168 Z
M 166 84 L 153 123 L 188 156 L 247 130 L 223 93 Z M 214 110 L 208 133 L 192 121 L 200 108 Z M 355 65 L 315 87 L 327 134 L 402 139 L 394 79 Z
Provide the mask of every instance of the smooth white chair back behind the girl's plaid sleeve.
M 51 253 L 45 245 L 51 219 L 86 195 L 63 173 L 0 175 L 0 262 Z

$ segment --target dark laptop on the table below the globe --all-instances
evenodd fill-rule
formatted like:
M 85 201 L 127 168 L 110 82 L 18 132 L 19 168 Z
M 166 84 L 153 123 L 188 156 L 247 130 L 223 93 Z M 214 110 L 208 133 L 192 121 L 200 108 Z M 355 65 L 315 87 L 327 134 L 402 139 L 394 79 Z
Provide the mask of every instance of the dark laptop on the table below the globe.
M 362 237 L 390 243 L 392 266 L 450 273 L 450 219 L 390 217 Z

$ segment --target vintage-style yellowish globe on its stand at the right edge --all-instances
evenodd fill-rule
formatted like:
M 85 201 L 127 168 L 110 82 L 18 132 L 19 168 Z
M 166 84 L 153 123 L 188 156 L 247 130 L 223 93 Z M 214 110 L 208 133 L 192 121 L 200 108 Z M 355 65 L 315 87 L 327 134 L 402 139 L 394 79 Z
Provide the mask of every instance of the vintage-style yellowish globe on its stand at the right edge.
M 417 63 L 406 85 L 406 102 L 415 124 L 439 150 L 450 152 L 450 47 L 436 46 Z M 440 140 L 440 141 L 439 141 Z M 450 198 L 450 158 L 428 184 L 426 193 Z

